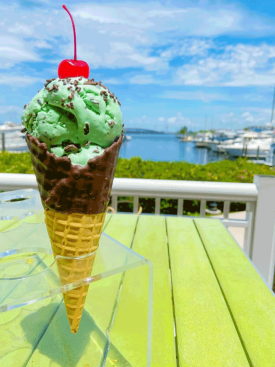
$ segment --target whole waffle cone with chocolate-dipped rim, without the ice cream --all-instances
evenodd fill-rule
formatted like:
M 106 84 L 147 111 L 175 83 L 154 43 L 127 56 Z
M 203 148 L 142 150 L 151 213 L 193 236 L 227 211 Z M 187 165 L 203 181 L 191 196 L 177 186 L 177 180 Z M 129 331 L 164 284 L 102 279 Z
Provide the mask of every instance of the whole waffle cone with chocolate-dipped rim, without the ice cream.
M 123 134 L 103 154 L 79 166 L 68 157 L 56 157 L 45 143 L 26 135 L 53 253 L 61 256 L 57 265 L 62 284 L 91 275 L 122 139 Z M 88 254 L 81 261 L 75 259 Z M 73 333 L 78 330 L 87 292 L 88 285 L 84 285 L 63 294 Z

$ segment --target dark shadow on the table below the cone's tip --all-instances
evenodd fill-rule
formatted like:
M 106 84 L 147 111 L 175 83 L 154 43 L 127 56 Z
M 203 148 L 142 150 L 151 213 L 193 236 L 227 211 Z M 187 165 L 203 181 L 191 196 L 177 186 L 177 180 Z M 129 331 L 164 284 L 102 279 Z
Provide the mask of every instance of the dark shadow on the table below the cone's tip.
M 85 309 L 83 310 L 78 333 L 72 334 L 63 302 L 49 327 L 47 328 L 45 325 L 43 329 L 43 325 L 41 325 L 43 332 L 39 340 L 37 340 L 37 336 L 35 338 L 33 335 L 35 331 L 33 331 L 32 325 L 43 323 L 43 314 L 45 315 L 45 313 L 49 312 L 49 308 L 52 309 L 52 305 L 41 307 L 38 311 L 25 317 L 21 322 L 28 342 L 33 344 L 33 341 L 36 340 L 36 343 L 38 343 L 38 345 L 33 344 L 33 348 L 36 351 L 31 356 L 30 362 L 36 365 L 35 363 L 39 361 L 43 365 L 42 360 L 50 360 L 56 362 L 61 367 L 77 366 L 91 340 L 93 340 L 93 343 L 89 346 L 89 353 L 87 358 L 85 358 L 85 362 L 90 365 L 94 359 L 102 359 L 103 350 L 106 347 L 105 335 L 98 329 L 93 318 Z M 35 329 L 37 326 L 36 324 Z M 38 359 L 36 359 L 37 352 L 39 352 Z

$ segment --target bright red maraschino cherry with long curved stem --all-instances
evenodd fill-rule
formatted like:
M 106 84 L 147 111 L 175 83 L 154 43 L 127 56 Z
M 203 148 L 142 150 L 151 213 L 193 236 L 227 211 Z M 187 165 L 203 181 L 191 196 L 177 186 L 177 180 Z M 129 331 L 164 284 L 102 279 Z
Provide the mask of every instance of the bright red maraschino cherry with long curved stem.
M 74 26 L 74 20 L 67 9 L 66 5 L 62 5 L 62 8 L 66 10 L 66 12 L 69 14 L 72 25 L 73 25 L 73 32 L 74 32 L 74 59 L 66 59 L 62 60 L 61 63 L 58 66 L 58 76 L 59 78 L 73 78 L 76 76 L 83 76 L 84 78 L 89 78 L 89 65 L 82 60 L 77 60 L 76 58 L 76 34 L 75 34 L 75 26 Z

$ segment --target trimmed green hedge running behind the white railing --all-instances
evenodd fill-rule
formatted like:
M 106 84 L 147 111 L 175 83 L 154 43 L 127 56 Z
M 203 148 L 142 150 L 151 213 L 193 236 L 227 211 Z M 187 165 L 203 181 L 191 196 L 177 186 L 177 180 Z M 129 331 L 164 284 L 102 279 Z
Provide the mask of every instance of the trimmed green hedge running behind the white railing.
M 0 172 L 33 173 L 29 153 L 0 153 Z M 119 158 L 116 177 L 147 178 L 162 180 L 187 181 L 217 181 L 217 182 L 253 182 L 255 174 L 275 175 L 273 168 L 248 162 L 238 158 L 236 161 L 224 160 L 220 162 L 198 165 L 187 162 L 153 162 L 140 158 Z M 129 201 L 131 198 L 121 198 Z M 140 198 L 140 205 L 144 213 L 154 212 L 154 199 Z M 133 204 L 120 203 L 119 211 L 132 211 Z M 222 203 L 218 203 L 222 210 Z M 231 211 L 244 210 L 244 203 L 231 203 Z M 185 200 L 183 214 L 196 215 L 199 211 L 197 200 Z M 177 202 L 172 199 L 161 200 L 161 213 L 176 214 Z

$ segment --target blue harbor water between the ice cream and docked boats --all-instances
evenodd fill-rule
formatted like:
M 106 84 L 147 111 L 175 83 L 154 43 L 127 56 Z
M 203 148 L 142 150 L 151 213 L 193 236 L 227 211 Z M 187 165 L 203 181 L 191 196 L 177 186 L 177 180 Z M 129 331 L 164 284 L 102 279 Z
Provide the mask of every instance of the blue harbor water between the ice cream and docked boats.
M 180 141 L 175 135 L 127 134 L 131 140 L 124 140 L 120 149 L 121 158 L 140 157 L 152 161 L 186 161 L 206 164 L 225 159 L 206 148 L 196 148 L 194 142 Z

